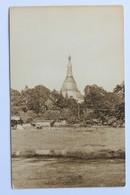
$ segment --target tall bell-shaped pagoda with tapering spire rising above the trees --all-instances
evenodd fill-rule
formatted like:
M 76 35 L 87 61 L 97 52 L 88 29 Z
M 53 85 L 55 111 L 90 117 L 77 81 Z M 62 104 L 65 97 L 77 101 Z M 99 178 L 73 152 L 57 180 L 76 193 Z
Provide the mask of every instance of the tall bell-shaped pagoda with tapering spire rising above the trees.
M 67 97 L 67 98 L 73 97 L 79 103 L 83 101 L 83 95 L 78 90 L 76 81 L 74 80 L 74 77 L 73 77 L 71 56 L 68 57 L 67 73 L 66 73 L 66 78 L 61 88 L 61 93 L 64 97 Z

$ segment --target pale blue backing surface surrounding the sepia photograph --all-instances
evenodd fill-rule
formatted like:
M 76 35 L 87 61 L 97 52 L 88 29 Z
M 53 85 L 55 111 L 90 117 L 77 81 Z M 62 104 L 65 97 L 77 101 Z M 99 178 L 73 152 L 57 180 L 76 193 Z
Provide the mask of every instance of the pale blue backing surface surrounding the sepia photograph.
M 124 54 L 126 85 L 126 186 L 13 190 L 11 187 L 9 8 L 13 6 L 122 5 L 124 7 Z M 130 1 L 129 0 L 0 0 L 0 193 L 12 195 L 89 194 L 122 195 L 130 192 Z

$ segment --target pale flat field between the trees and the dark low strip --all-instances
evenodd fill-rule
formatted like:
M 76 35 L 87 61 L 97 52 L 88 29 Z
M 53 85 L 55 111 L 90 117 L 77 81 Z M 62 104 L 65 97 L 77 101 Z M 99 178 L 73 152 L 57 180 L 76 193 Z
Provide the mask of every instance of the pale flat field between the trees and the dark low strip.
M 27 150 L 96 152 L 125 150 L 124 128 L 43 128 L 12 130 L 12 153 Z

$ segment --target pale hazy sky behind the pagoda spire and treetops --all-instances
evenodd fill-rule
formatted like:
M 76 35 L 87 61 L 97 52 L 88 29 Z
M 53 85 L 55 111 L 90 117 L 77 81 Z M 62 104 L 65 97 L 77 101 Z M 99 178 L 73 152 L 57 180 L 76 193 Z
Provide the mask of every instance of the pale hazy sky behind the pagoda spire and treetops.
M 112 91 L 124 80 L 123 36 L 121 6 L 11 8 L 11 87 L 60 90 L 71 55 L 81 92 Z

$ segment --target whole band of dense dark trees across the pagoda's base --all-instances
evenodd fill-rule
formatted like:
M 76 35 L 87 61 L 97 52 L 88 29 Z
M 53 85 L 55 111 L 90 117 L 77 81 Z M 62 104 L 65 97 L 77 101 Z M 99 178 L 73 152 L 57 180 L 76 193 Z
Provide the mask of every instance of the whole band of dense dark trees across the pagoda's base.
M 24 122 L 42 118 L 65 119 L 72 124 L 122 126 L 125 122 L 124 94 L 124 83 L 117 85 L 113 92 L 87 85 L 84 101 L 79 104 L 43 85 L 32 89 L 26 86 L 21 92 L 11 89 L 11 114 L 20 115 Z

